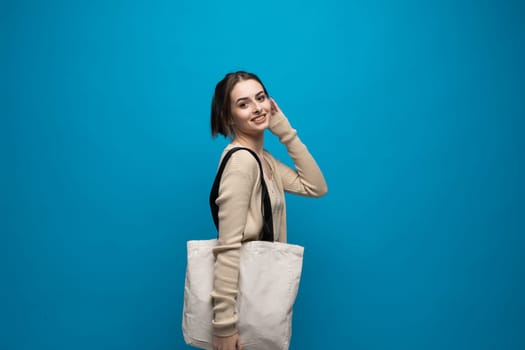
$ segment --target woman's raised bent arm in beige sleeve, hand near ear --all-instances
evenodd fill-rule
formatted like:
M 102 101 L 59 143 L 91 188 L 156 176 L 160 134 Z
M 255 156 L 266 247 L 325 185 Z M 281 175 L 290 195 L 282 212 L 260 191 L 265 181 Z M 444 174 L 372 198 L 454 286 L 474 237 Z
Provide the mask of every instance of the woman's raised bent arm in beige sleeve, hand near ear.
M 286 146 L 296 168 L 293 170 L 283 163 L 277 162 L 284 190 L 309 197 L 325 195 L 328 192 L 328 187 L 321 169 L 274 99 L 271 99 L 271 103 L 273 114 L 269 129 Z

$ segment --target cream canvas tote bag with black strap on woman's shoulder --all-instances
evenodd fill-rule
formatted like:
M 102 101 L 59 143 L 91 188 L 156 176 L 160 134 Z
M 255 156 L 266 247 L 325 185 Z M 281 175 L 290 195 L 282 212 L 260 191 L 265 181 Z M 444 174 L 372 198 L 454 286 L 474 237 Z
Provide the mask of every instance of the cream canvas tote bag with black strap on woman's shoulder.
M 223 158 L 210 194 L 212 216 L 217 227 L 218 208 L 213 205 L 220 177 L 231 154 L 241 149 L 252 153 L 259 163 L 263 216 L 264 221 L 271 224 L 271 204 L 267 193 L 264 194 L 266 184 L 262 165 L 253 151 L 237 147 Z M 268 240 L 246 242 L 241 246 L 237 329 L 245 350 L 285 350 L 290 344 L 293 304 L 301 279 L 304 248 L 273 242 L 273 225 L 265 225 L 263 239 Z M 202 349 L 212 349 L 213 248 L 217 244 L 217 239 L 187 242 L 182 331 L 187 344 Z

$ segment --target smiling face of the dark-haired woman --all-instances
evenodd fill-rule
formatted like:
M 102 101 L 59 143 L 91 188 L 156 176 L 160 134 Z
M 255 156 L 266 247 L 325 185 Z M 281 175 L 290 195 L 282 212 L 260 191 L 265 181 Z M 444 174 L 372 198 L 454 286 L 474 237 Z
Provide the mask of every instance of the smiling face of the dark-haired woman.
M 230 101 L 236 136 L 255 136 L 268 127 L 272 107 L 270 99 L 257 80 L 241 80 L 235 84 Z

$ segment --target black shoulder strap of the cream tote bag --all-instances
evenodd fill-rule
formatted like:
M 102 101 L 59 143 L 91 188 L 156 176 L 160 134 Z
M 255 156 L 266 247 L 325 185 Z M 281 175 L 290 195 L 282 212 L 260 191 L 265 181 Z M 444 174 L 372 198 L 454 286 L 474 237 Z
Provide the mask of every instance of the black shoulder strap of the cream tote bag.
M 255 157 L 255 159 L 257 160 L 257 163 L 259 164 L 259 170 L 261 171 L 261 187 L 262 187 L 261 211 L 263 215 L 263 229 L 262 229 L 261 241 L 273 242 L 272 203 L 270 201 L 270 196 L 268 194 L 268 188 L 266 187 L 266 182 L 264 181 L 261 161 L 259 160 L 259 157 L 257 156 L 257 154 L 249 148 L 245 148 L 245 147 L 232 148 L 230 151 L 228 151 L 228 153 L 226 153 L 226 155 L 222 159 L 221 165 L 219 166 L 219 170 L 217 170 L 217 175 L 215 176 L 215 181 L 213 181 L 213 186 L 210 192 L 210 209 L 211 209 L 211 215 L 213 217 L 213 222 L 215 223 L 215 227 L 217 228 L 217 231 L 218 231 L 219 230 L 219 206 L 215 202 L 217 200 L 217 197 L 219 197 L 219 185 L 221 183 L 222 173 L 224 171 L 224 168 L 226 167 L 226 163 L 228 162 L 228 159 L 230 159 L 233 153 L 240 151 L 240 150 L 246 150 L 250 152 Z

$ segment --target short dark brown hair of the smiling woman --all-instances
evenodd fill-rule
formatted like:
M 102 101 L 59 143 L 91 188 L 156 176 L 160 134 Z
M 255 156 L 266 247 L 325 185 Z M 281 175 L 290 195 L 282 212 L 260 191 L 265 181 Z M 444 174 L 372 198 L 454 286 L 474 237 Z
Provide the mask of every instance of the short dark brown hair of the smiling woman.
M 216 137 L 218 134 L 225 137 L 233 136 L 230 95 L 238 82 L 250 79 L 256 80 L 261 84 L 264 93 L 268 96 L 261 79 L 253 73 L 244 71 L 226 74 L 215 86 L 215 93 L 211 100 L 211 135 L 213 137 Z

